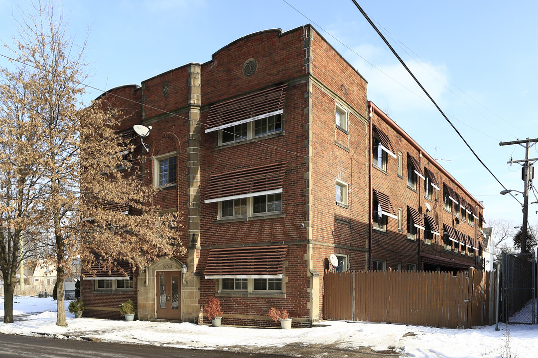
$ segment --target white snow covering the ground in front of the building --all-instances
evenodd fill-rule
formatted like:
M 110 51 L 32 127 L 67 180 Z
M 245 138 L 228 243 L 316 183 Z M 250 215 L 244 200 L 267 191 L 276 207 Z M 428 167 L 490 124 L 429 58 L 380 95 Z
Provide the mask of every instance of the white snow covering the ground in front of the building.
M 181 348 L 222 349 L 241 346 L 279 347 L 288 344 L 334 345 L 353 350 L 358 346 L 375 350 L 394 349 L 406 357 L 484 357 L 497 358 L 506 349 L 506 328 L 512 357 L 532 357 L 538 347 L 538 327 L 535 325 L 500 325 L 452 330 L 399 324 L 324 321 L 312 328 L 280 330 L 190 323 L 124 322 L 94 318 L 75 319 L 67 312 L 67 327 L 56 326 L 56 302 L 52 298 L 15 297 L 16 314 L 27 317 L 12 324 L 0 323 L 0 333 L 52 334 L 59 338 L 90 337 L 97 340 L 133 342 Z M 4 299 L 0 297 L 0 314 Z M 40 313 L 35 313 L 40 312 Z M 225 324 L 225 319 L 223 320 Z

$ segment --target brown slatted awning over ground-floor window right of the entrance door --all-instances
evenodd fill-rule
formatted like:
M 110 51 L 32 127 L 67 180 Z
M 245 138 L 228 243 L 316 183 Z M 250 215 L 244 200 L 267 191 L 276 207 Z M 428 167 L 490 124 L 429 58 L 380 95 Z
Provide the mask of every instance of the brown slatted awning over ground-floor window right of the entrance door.
M 211 249 L 206 279 L 282 278 L 287 245 L 227 247 Z

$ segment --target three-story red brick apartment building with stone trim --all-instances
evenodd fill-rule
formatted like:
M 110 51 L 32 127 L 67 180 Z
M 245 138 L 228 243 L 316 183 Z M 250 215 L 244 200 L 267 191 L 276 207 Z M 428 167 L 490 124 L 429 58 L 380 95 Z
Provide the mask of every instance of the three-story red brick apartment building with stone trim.
M 272 325 L 275 307 L 308 326 L 322 318 L 325 270 L 478 267 L 484 207 L 367 101 L 366 84 L 305 25 L 104 93 L 122 135 L 153 127 L 135 155 L 162 188 L 155 202 L 182 215 L 188 255 L 127 277 L 95 267 L 84 315 L 119 318 L 132 299 L 141 320 L 200 322 L 216 296 L 225 324 Z

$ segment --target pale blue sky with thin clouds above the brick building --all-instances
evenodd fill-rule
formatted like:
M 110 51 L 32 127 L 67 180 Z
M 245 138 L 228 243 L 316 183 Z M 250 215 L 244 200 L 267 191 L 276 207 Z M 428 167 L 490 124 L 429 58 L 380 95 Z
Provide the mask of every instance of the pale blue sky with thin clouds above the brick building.
M 538 137 L 538 2 L 359 3 L 495 176 L 522 191 L 520 166 L 506 162 L 524 158 L 525 151 L 499 142 Z M 369 99 L 431 156 L 446 159 L 441 165 L 484 202 L 486 221 L 508 218 L 521 225 L 520 204 L 499 195 L 502 187 L 424 99 L 350 0 L 93 0 L 62 6 L 77 41 L 89 30 L 86 55 L 93 76 L 88 83 L 101 90 L 209 61 L 218 49 L 253 32 L 313 24 L 367 79 Z M 15 31 L 10 13 L 16 7 L 16 1 L 0 0 L 4 41 Z M 0 54 L 8 52 L 1 48 Z M 100 93 L 90 89 L 85 100 Z M 530 157 L 538 157 L 537 147 Z M 538 199 L 531 194 L 529 201 Z M 536 210 L 537 204 L 529 207 L 533 225 Z

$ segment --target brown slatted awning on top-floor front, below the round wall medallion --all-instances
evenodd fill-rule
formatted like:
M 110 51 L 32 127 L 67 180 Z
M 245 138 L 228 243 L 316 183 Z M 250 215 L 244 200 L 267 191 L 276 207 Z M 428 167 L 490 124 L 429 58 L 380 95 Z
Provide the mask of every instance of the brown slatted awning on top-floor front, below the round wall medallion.
M 206 133 L 284 113 L 287 84 L 211 106 Z

